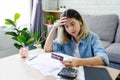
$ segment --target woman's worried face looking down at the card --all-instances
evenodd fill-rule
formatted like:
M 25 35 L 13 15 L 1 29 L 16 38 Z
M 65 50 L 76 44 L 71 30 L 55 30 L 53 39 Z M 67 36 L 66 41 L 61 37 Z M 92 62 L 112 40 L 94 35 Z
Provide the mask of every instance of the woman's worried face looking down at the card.
M 80 25 L 81 22 L 79 20 L 75 18 L 66 18 L 65 30 L 73 37 L 77 37 L 80 31 Z

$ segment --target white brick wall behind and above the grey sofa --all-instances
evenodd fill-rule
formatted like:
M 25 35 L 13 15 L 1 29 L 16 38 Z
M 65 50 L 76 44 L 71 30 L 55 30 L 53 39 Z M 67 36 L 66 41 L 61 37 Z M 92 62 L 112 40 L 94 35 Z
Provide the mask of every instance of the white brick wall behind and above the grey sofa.
M 48 6 L 55 9 L 55 1 L 47 0 Z M 120 16 L 120 0 L 59 0 L 60 6 L 66 5 L 82 14 L 118 14 Z

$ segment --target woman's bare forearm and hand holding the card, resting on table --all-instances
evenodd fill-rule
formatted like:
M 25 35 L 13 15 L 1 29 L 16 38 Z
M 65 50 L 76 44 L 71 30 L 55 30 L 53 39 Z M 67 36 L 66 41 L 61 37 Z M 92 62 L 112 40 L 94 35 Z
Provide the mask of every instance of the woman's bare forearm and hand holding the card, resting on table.
M 61 62 L 66 67 L 79 67 L 79 66 L 103 66 L 105 62 L 100 56 L 95 56 L 91 58 L 73 58 L 69 60 L 64 60 Z

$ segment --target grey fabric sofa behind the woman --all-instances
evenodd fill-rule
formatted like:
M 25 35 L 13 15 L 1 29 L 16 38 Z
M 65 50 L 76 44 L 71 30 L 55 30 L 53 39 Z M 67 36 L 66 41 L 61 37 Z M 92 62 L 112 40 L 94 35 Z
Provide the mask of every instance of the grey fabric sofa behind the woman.
M 82 15 L 90 30 L 98 34 L 112 68 L 120 69 L 120 19 L 116 14 Z

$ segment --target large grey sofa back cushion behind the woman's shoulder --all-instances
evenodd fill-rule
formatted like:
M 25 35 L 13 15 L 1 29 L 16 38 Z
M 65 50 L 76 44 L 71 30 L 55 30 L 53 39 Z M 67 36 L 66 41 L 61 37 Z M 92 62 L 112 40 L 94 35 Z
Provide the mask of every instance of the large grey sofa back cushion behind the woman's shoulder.
M 101 40 L 113 42 L 118 16 L 115 14 L 106 15 L 83 15 L 83 19 L 90 27 L 90 30 L 97 33 Z

